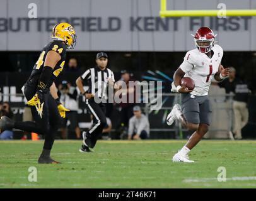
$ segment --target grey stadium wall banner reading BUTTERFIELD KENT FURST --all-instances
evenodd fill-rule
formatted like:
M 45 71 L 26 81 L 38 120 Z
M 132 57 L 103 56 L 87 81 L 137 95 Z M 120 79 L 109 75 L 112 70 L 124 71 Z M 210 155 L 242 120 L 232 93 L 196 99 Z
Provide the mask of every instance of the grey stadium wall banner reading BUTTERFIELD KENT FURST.
M 76 51 L 165 51 L 194 48 L 191 33 L 209 26 L 226 51 L 255 51 L 256 17 L 160 18 L 158 0 L 33 1 L 37 17 L 28 18 L 28 0 L 0 1 L 0 50 L 38 51 L 50 41 L 54 24 L 73 24 Z M 218 0 L 168 1 L 168 9 L 217 9 Z M 224 1 L 227 9 L 255 9 L 255 1 Z M 113 6 L 109 6 L 113 5 Z M 16 9 L 19 8 L 19 9 Z M 122 9 L 120 9 L 122 8 Z M 243 38 L 243 40 L 238 40 Z

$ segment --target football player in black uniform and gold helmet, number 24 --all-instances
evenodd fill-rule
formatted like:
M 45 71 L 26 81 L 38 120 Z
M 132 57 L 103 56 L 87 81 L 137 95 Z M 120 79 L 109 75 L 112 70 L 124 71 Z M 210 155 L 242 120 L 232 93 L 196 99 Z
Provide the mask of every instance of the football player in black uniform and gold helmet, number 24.
M 43 48 L 22 89 L 35 122 L 13 121 L 6 116 L 0 119 L 0 132 L 16 128 L 44 134 L 44 148 L 38 163 L 59 163 L 50 158 L 50 150 L 61 126 L 61 117 L 64 118 L 69 110 L 59 101 L 54 81 L 63 70 L 66 49 L 73 49 L 76 45 L 76 32 L 71 24 L 59 23 L 52 29 L 52 40 Z

